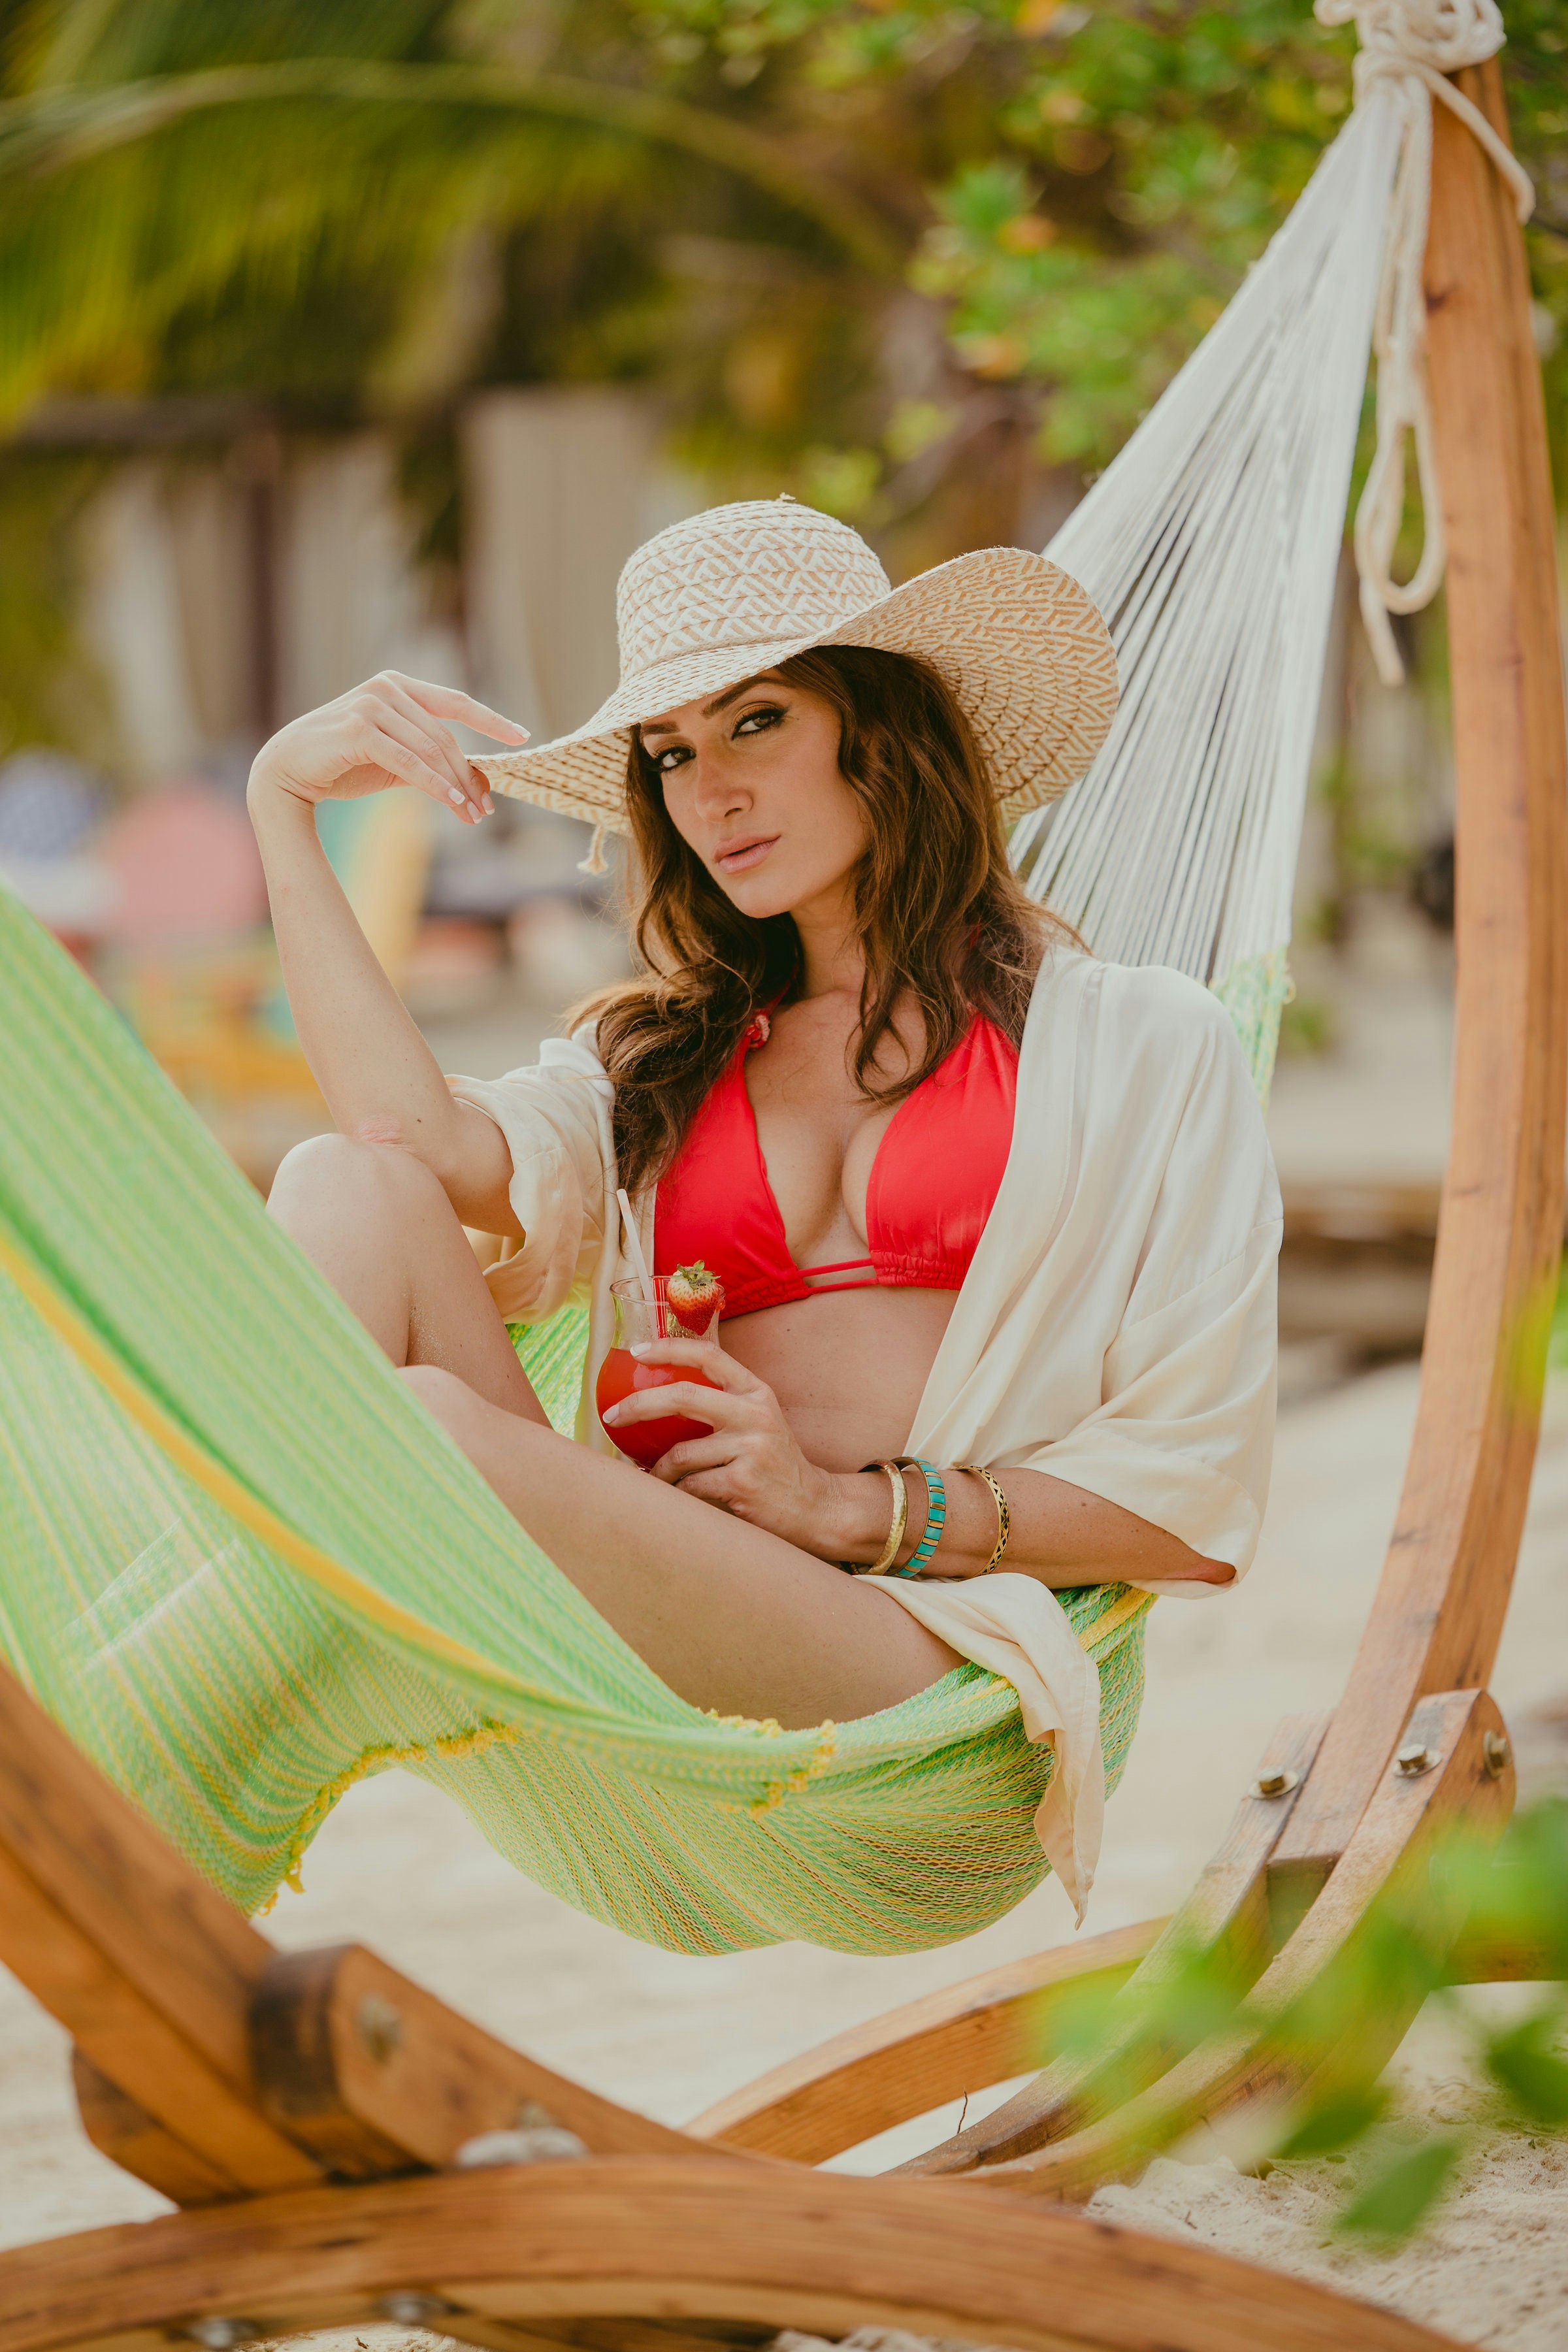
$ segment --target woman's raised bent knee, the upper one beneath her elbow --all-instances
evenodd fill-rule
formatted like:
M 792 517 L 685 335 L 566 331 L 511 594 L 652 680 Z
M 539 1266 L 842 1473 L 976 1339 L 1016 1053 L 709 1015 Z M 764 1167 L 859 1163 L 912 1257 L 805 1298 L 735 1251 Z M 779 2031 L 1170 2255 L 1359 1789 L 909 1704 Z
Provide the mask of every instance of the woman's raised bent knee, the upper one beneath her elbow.
M 545 1421 L 480 1261 L 430 1169 L 395 1143 L 313 1136 L 268 1209 L 393 1364 L 437 1364 L 505 1414 Z

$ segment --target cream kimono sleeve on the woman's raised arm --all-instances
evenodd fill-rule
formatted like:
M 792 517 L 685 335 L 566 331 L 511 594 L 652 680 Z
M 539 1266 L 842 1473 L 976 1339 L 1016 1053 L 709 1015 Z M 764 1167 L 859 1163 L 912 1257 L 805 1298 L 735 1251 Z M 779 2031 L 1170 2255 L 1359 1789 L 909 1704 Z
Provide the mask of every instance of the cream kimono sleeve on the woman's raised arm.
M 508 1185 L 522 1242 L 487 1270 L 508 1322 L 543 1322 L 583 1289 L 614 1211 L 614 1089 L 588 1033 L 545 1037 L 538 1061 L 505 1077 L 449 1077 L 458 1103 L 496 1122 L 512 1152 Z

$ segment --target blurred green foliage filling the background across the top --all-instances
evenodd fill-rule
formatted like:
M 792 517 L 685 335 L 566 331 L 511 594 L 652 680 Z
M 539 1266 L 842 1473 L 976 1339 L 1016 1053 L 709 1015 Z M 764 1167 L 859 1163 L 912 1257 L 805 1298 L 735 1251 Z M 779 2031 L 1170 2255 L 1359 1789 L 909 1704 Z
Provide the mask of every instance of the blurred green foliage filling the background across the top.
M 987 435 L 1119 449 L 1352 52 L 1309 0 L 0 0 L 0 416 L 244 390 L 418 440 L 630 379 L 710 480 L 926 562 L 1009 534 Z M 1561 447 L 1561 0 L 1509 0 L 1505 71 Z

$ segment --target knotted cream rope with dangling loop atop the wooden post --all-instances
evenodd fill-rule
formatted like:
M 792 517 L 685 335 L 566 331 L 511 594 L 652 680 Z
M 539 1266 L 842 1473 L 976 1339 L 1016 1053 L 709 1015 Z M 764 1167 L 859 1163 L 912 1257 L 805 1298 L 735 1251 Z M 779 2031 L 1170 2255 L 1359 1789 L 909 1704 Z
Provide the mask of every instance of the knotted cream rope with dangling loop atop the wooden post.
M 1387 89 L 1401 113 L 1399 172 L 1373 329 L 1378 447 L 1354 527 L 1361 619 L 1378 675 L 1387 687 L 1396 687 L 1403 680 L 1403 663 L 1389 614 L 1420 612 L 1422 604 L 1429 604 L 1443 579 L 1446 560 L 1427 400 L 1427 306 L 1422 296 L 1432 207 L 1432 101 L 1439 99 L 1481 141 L 1514 191 L 1521 221 L 1528 221 L 1535 209 L 1535 191 L 1523 165 L 1509 153 L 1486 115 L 1446 80 L 1460 66 L 1481 66 L 1502 47 L 1497 0 L 1316 0 L 1314 14 L 1324 26 L 1356 26 L 1361 42 L 1354 68 L 1356 103 L 1373 89 Z M 1392 564 L 1403 520 L 1406 433 L 1415 442 L 1425 541 L 1410 579 L 1396 581 Z

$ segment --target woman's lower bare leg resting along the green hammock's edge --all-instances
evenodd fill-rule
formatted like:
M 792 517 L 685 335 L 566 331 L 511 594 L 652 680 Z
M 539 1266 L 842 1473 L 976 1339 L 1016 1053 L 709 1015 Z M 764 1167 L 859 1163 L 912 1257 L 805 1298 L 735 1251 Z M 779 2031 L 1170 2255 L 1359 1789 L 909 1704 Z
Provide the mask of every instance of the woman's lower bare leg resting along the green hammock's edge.
M 404 1378 L 557 1569 L 693 1705 L 853 1722 L 959 1663 L 875 1583 L 531 1428 L 447 1371 Z

